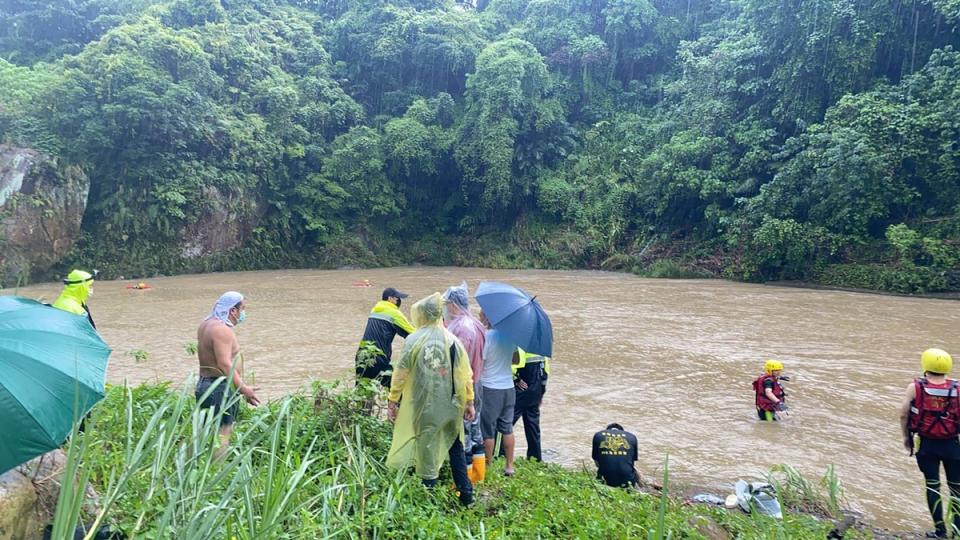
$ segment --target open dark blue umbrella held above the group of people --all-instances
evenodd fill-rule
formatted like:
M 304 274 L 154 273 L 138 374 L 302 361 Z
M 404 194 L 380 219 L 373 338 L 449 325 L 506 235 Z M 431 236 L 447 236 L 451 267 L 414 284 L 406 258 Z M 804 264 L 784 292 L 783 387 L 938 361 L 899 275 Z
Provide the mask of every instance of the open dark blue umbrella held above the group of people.
M 535 298 L 512 285 L 484 281 L 476 299 L 490 324 L 518 347 L 553 356 L 553 325 Z

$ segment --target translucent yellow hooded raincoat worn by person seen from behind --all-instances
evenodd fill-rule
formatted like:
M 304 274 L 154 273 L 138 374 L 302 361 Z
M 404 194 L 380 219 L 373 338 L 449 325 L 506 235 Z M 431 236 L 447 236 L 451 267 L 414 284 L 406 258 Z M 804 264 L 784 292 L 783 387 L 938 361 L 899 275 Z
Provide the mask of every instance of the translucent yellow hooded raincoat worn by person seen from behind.
M 463 439 L 463 411 L 473 401 L 470 357 L 443 327 L 443 298 L 434 293 L 413 305 L 413 324 L 400 358 L 393 362 L 390 401 L 400 402 L 387 465 L 402 469 L 411 462 L 417 476 L 437 478 L 457 437 Z M 451 361 L 450 352 L 456 351 Z M 452 364 L 452 368 L 451 368 Z

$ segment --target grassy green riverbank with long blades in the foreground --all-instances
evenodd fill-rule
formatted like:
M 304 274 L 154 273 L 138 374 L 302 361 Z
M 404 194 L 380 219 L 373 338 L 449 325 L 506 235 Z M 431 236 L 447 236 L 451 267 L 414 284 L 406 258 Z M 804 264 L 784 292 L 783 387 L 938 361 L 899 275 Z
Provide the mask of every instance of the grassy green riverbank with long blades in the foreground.
M 389 424 L 358 413 L 364 390 L 332 384 L 245 411 L 231 452 L 217 462 L 216 427 L 188 394 L 163 385 L 109 390 L 70 447 L 102 509 L 80 516 L 73 494 L 82 490 L 65 489 L 60 530 L 78 517 L 131 538 L 722 538 L 725 532 L 821 539 L 833 527 L 802 513 L 781 521 L 610 489 L 588 471 L 524 460 L 510 479 L 495 464 L 477 487 L 477 503 L 463 509 L 446 471 L 443 487 L 431 493 L 412 475 L 386 469 Z M 788 507 L 835 506 L 836 483 L 817 495 L 802 479 L 781 477 Z

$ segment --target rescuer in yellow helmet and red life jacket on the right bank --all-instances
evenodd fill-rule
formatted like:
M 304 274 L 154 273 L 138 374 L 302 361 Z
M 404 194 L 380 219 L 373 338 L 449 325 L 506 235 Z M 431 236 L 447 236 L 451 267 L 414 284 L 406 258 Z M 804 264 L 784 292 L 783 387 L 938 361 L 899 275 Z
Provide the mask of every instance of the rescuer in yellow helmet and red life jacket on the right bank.
M 947 538 L 940 493 L 940 464 L 947 473 L 954 535 L 960 533 L 960 388 L 948 379 L 953 358 L 944 350 L 927 349 L 920 355 L 923 377 L 907 386 L 900 405 L 903 446 L 916 456 L 926 484 L 927 508 L 935 530 L 932 538 Z M 916 435 L 916 439 L 914 439 Z

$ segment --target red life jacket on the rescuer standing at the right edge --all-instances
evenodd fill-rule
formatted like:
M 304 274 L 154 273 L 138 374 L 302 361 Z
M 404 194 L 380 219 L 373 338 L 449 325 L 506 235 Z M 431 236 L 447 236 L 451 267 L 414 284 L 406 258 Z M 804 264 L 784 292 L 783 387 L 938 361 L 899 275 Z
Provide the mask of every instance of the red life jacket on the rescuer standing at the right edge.
M 957 381 L 947 379 L 932 384 L 917 379 L 916 397 L 910 404 L 907 424 L 911 433 L 926 439 L 950 439 L 960 433 L 960 388 Z

